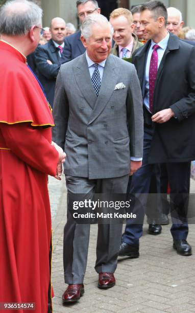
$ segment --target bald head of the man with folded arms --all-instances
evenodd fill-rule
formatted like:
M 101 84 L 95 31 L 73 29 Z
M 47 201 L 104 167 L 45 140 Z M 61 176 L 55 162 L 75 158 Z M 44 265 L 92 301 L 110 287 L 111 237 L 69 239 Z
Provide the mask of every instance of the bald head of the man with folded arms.
M 51 21 L 50 27 L 52 33 L 52 39 L 58 43 L 62 44 L 64 37 L 66 35 L 66 23 L 65 20 L 61 17 L 55 17 Z

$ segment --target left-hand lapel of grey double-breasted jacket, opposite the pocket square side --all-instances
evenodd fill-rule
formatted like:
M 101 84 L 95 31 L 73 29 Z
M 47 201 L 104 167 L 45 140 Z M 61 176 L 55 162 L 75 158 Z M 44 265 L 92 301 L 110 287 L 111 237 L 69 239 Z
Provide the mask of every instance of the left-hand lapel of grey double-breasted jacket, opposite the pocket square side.
M 76 82 L 79 86 L 79 89 L 88 102 L 90 107 L 93 109 L 95 102 L 97 100 L 97 96 L 95 94 L 93 84 L 91 81 L 91 77 L 89 74 L 88 64 L 86 60 L 85 53 L 79 59 L 76 66 L 73 68 Z

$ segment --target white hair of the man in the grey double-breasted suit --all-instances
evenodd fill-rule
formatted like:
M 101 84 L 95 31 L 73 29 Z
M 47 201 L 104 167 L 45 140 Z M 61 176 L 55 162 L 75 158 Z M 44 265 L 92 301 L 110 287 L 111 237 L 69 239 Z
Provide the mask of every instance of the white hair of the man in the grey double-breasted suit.
M 107 24 L 110 27 L 110 34 L 112 36 L 113 29 L 108 19 L 102 14 L 89 14 L 85 17 L 82 26 L 81 26 L 81 34 L 83 37 L 88 40 L 91 35 L 91 26 L 97 24 Z

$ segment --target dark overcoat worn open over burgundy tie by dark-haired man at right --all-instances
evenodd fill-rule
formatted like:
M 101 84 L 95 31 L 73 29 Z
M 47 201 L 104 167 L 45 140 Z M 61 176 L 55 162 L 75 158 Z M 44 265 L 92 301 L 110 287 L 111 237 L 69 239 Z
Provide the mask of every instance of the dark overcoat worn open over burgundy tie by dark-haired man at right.
M 151 40 L 133 55 L 143 98 L 150 44 Z M 172 34 L 157 73 L 154 114 L 166 108 L 172 108 L 175 117 L 163 124 L 155 123 L 149 163 L 195 160 L 195 47 Z M 146 110 L 144 122 L 151 123 Z

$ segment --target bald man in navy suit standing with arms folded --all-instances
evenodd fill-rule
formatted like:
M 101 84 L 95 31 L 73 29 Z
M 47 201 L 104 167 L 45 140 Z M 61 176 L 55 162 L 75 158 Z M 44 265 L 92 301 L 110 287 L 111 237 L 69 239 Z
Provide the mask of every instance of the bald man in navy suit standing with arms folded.
M 37 75 L 43 85 L 46 98 L 53 107 L 56 77 L 61 65 L 61 55 L 64 49 L 64 37 L 66 23 L 60 17 L 51 21 L 52 39 L 43 46 L 39 46 L 35 52 Z

